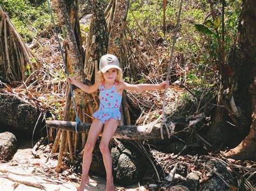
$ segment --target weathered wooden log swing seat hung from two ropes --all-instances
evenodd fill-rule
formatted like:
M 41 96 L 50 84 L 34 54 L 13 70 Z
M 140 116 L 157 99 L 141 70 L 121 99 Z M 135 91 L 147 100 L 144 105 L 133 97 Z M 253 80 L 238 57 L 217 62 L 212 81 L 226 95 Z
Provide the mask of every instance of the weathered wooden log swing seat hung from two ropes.
M 187 117 L 176 122 L 167 123 L 170 126 L 170 130 L 174 128 L 171 135 L 176 135 L 180 131 L 184 131 L 191 128 L 193 125 L 200 122 L 205 118 L 205 114 L 201 113 L 197 116 Z M 76 122 L 67 121 L 46 121 L 46 125 L 50 128 L 75 131 Z M 179 131 L 176 131 L 175 127 L 179 126 Z M 79 123 L 77 126 L 78 132 L 89 133 L 90 123 Z M 119 125 L 113 138 L 121 139 L 158 139 L 160 136 L 160 123 L 151 123 L 149 125 Z M 100 135 L 101 136 L 101 135 Z M 167 137 L 166 131 L 164 131 L 164 137 Z

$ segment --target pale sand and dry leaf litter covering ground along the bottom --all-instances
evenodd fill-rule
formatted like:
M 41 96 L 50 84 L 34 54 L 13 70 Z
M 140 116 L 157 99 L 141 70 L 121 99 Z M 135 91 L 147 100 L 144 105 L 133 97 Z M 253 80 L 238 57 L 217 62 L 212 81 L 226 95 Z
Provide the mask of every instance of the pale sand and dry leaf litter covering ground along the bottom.
M 23 136 L 24 137 L 24 136 Z M 63 164 L 62 173 L 56 173 L 55 168 L 57 166 L 57 155 L 58 153 L 51 154 L 51 149 L 49 145 L 42 145 L 38 148 L 36 154 L 38 154 L 38 158 L 36 158 L 32 154 L 32 144 L 31 139 L 21 138 L 17 136 L 18 140 L 18 150 L 15 153 L 12 160 L 9 162 L 0 163 L 0 190 L 76 190 L 79 186 L 80 174 L 72 173 L 72 169 Z M 33 143 L 35 144 L 35 143 Z M 241 184 L 245 186 L 245 188 L 253 189 L 253 185 L 255 183 L 255 179 L 253 180 L 253 174 L 255 174 L 255 165 L 256 163 L 253 161 L 235 161 L 231 159 L 220 158 L 218 155 L 212 153 L 212 157 L 210 155 L 201 155 L 199 158 L 195 155 L 179 155 L 179 154 L 167 154 L 159 151 L 152 151 L 154 157 L 158 159 L 159 164 L 165 169 L 167 172 L 167 168 L 170 168 L 170 164 L 178 164 L 177 172 L 182 173 L 184 169 L 181 169 L 181 164 L 187 166 L 192 171 L 200 171 L 202 173 L 200 178 L 200 184 L 207 181 L 210 177 L 207 177 L 207 173 L 205 172 L 205 168 L 202 164 L 206 164 L 206 161 L 209 159 L 216 159 L 224 162 L 225 166 L 230 170 L 230 173 L 234 175 L 234 172 L 240 174 L 241 176 L 245 176 L 245 174 L 251 174 L 250 178 L 245 182 L 240 182 L 240 179 L 237 175 L 233 176 L 234 181 L 238 181 L 237 188 L 241 187 Z M 209 153 L 208 153 L 209 154 Z M 215 157 L 213 157 L 215 155 Z M 206 160 L 205 160 L 206 159 Z M 82 164 L 81 164 L 82 165 Z M 206 165 L 207 166 L 207 165 Z M 235 170 L 237 169 L 237 170 Z M 243 172 L 242 172 L 243 171 Z M 240 172 L 240 173 L 239 173 Z M 221 172 L 219 172 L 221 173 Z M 218 174 L 218 173 L 217 173 Z M 244 175 L 242 175 L 244 174 Z M 167 175 L 167 174 L 166 174 Z M 87 183 L 85 190 L 105 190 L 106 181 L 103 177 L 90 175 L 90 182 Z M 167 176 L 169 177 L 170 174 Z M 180 176 L 180 175 L 179 175 Z M 166 177 L 166 179 L 167 179 Z M 145 178 L 145 177 L 144 177 Z M 184 179 L 184 178 L 183 178 Z M 182 180 L 178 180 L 182 182 Z M 226 180 L 222 180 L 225 182 Z M 160 181 L 155 180 L 152 176 L 147 181 L 138 182 L 136 185 L 131 186 L 120 186 L 115 185 L 116 190 L 149 190 L 150 184 L 157 186 L 158 188 L 168 189 L 172 185 L 170 181 L 166 181 L 161 179 Z M 221 181 L 220 181 L 221 182 Z M 240 183 L 239 183 L 240 182 Z M 250 183 L 251 182 L 251 183 Z M 155 185 L 155 183 L 157 185 Z M 177 182 L 176 182 L 177 183 Z M 180 183 L 178 183 L 179 185 Z

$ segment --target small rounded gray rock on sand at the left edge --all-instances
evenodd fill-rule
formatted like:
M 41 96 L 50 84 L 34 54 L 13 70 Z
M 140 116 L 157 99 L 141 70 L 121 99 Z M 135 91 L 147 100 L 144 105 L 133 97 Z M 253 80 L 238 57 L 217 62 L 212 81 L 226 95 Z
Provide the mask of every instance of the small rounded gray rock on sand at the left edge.
M 17 151 L 17 139 L 10 132 L 0 133 L 0 160 L 9 161 Z

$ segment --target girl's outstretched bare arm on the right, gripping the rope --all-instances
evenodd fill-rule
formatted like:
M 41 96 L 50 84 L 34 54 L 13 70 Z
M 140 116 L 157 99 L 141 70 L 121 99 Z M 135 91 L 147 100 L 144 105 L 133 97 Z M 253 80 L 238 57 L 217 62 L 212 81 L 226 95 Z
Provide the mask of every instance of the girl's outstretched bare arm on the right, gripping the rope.
M 123 82 L 123 89 L 133 90 L 133 91 L 150 91 L 156 89 L 168 89 L 170 86 L 169 81 L 164 81 L 158 84 L 149 84 L 149 83 L 141 83 L 141 84 L 129 84 Z

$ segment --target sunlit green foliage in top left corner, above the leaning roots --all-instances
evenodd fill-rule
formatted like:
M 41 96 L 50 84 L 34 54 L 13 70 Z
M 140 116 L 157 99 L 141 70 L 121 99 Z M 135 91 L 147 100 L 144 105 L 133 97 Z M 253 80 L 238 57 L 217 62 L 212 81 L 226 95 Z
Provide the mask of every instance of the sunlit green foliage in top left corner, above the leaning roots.
M 46 2 L 35 7 L 29 1 L 8 0 L 3 1 L 3 9 L 26 42 L 32 41 L 52 27 Z

